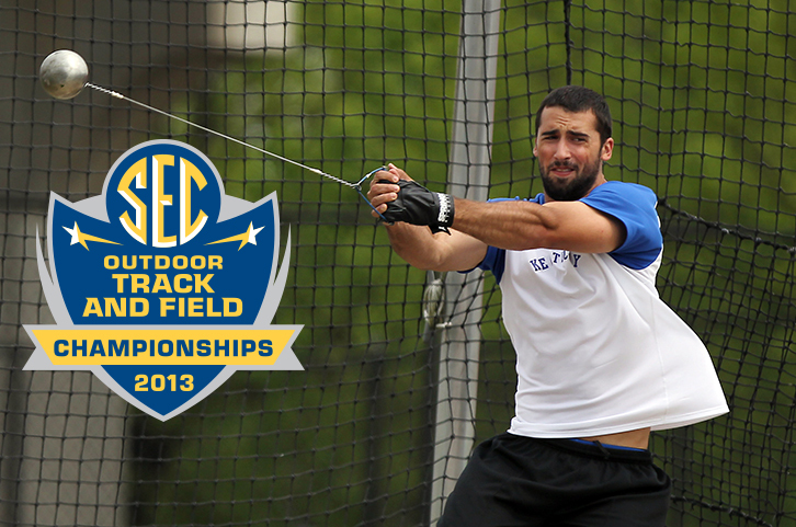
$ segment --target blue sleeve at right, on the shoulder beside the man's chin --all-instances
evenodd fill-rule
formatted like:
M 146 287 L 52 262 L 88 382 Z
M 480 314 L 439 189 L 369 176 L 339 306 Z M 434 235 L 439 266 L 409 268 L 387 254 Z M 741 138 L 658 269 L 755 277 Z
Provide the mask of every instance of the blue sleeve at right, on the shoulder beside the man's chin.
M 635 183 L 610 181 L 580 201 L 625 226 L 625 242 L 609 253 L 616 262 L 643 270 L 656 261 L 663 249 L 663 237 L 655 210 L 658 197 L 651 190 Z

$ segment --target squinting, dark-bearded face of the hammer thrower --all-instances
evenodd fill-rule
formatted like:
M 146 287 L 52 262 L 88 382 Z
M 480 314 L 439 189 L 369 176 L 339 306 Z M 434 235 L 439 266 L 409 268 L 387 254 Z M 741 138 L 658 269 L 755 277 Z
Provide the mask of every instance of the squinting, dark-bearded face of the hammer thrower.
M 613 147 L 612 138 L 601 144 L 593 112 L 572 113 L 560 106 L 543 110 L 534 156 L 547 198 L 572 202 L 603 183 L 603 161 L 611 159 Z

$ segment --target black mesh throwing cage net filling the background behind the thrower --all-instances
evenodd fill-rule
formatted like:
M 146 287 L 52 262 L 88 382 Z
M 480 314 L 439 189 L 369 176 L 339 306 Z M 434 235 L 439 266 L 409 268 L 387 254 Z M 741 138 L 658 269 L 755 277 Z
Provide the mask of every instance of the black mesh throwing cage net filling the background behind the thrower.
M 659 290 L 731 408 L 653 435 L 669 525 L 795 525 L 795 28 L 784 0 L 3 2 L 0 525 L 425 525 L 513 412 L 491 276 L 410 268 L 346 186 L 103 93 L 50 99 L 36 75 L 59 48 L 92 82 L 346 181 L 390 161 L 479 199 L 541 192 L 530 115 L 550 89 L 604 93 L 606 175 L 659 196 Z M 89 373 L 22 369 L 22 324 L 52 321 L 49 193 L 96 195 L 153 138 L 205 152 L 227 194 L 276 193 L 293 256 L 275 323 L 304 324 L 306 368 L 239 371 L 166 422 Z

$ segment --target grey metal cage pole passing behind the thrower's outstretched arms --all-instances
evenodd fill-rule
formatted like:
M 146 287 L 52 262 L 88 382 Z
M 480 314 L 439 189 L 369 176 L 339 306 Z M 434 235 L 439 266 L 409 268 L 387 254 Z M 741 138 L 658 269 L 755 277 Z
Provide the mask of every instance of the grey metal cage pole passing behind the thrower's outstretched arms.
M 464 0 L 448 192 L 485 201 L 489 190 L 499 0 Z M 480 272 L 448 273 L 431 484 L 431 523 L 442 515 L 475 442 L 481 319 Z

